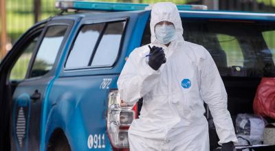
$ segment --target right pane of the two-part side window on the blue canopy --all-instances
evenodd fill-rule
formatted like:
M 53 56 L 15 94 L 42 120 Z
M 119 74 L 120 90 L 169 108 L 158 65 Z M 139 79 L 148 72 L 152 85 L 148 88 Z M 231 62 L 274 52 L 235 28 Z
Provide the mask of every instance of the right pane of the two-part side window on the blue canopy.
M 125 21 L 108 23 L 91 66 L 112 66 L 118 56 Z

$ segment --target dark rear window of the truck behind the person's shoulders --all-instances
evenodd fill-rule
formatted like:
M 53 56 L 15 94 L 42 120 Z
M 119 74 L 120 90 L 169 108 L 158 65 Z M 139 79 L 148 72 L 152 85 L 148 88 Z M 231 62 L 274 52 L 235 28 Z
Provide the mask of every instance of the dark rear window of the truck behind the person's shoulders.
M 275 23 L 182 19 L 184 39 L 203 45 L 222 76 L 275 76 Z M 142 45 L 150 43 L 146 26 Z

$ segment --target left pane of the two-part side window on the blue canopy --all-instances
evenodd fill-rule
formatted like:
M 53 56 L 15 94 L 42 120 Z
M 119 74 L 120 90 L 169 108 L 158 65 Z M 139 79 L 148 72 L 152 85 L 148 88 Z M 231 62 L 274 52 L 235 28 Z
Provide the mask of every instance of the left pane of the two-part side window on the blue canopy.
M 74 42 L 74 47 L 70 51 L 65 65 L 66 68 L 87 67 L 89 65 L 91 54 L 93 54 L 103 27 L 104 23 L 96 23 L 84 25 L 81 28 Z

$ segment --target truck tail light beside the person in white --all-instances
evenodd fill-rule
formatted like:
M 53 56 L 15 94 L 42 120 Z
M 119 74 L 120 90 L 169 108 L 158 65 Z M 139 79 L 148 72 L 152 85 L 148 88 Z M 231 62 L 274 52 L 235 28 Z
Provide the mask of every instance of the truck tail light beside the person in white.
M 128 130 L 137 117 L 137 106 L 129 106 L 120 99 L 118 90 L 108 96 L 107 132 L 114 150 L 129 148 Z

